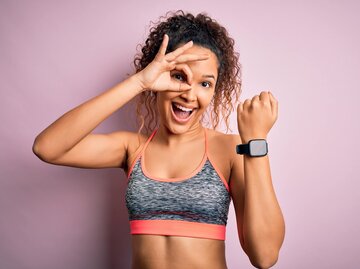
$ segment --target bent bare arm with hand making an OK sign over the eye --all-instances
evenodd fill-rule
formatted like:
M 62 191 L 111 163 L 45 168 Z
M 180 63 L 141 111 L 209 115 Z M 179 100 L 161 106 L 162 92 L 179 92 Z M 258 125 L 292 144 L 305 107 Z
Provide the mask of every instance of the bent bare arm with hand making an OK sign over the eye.
M 86 168 L 126 166 L 127 148 L 132 134 L 114 132 L 91 134 L 102 121 L 142 91 L 185 91 L 190 86 L 170 76 L 175 68 L 188 73 L 186 62 L 204 60 L 208 55 L 184 53 L 193 44 L 188 42 L 165 54 L 165 35 L 155 59 L 143 70 L 102 94 L 66 112 L 36 138 L 33 152 L 43 161 L 58 165 Z M 182 64 L 183 67 L 176 67 Z M 191 74 L 189 74 L 191 75 Z

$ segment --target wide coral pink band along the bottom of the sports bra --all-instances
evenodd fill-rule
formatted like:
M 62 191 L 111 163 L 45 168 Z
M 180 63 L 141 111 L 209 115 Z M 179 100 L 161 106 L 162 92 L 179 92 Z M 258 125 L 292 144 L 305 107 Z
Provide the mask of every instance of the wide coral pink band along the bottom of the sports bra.
M 131 234 L 174 235 L 225 240 L 226 226 L 182 220 L 132 220 Z

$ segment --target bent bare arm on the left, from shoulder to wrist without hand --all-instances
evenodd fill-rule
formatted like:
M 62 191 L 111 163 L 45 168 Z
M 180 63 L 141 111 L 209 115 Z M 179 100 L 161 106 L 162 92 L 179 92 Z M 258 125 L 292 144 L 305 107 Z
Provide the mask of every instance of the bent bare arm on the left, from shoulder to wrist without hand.
M 36 137 L 33 152 L 54 164 L 94 168 L 122 166 L 127 133 L 90 132 L 141 91 L 143 87 L 134 75 L 75 107 Z

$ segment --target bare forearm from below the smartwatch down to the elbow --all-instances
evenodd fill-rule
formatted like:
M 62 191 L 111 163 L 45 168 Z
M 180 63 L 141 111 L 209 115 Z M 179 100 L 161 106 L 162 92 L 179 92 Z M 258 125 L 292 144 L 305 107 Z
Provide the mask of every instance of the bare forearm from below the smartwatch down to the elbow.
M 269 157 L 244 156 L 245 208 L 243 232 L 248 255 L 269 268 L 278 258 L 285 223 L 276 199 Z

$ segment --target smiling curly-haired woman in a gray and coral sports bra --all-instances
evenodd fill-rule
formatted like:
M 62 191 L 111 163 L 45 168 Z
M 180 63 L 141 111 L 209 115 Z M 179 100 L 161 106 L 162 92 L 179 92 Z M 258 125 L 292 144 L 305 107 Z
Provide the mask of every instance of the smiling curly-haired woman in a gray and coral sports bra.
M 263 91 L 239 103 L 239 135 L 202 124 L 210 108 L 213 127 L 220 114 L 228 127 L 232 97 L 237 100 L 241 85 L 233 45 L 226 29 L 205 14 L 168 14 L 151 28 L 134 75 L 65 113 L 34 141 L 33 151 L 43 161 L 127 173 L 132 268 L 227 268 L 231 199 L 250 262 L 269 268 L 277 261 L 284 220 L 268 155 L 253 144 L 250 152 L 240 152 L 253 139 L 266 145 L 277 119 L 276 99 Z M 91 133 L 136 96 L 138 133 Z

